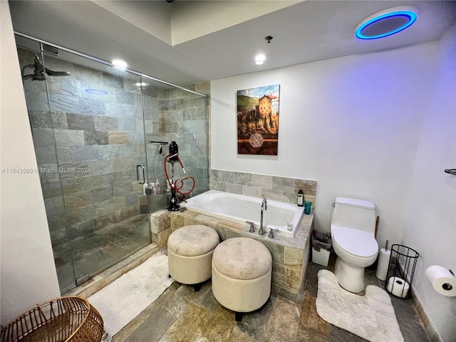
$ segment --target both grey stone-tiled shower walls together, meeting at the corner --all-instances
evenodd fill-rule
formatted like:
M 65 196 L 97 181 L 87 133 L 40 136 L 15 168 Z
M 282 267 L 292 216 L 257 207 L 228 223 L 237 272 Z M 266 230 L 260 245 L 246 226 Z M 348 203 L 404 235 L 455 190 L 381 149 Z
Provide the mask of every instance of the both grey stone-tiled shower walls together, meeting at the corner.
M 31 53 L 18 51 L 21 67 L 33 63 Z M 205 98 L 155 86 L 147 86 L 141 93 L 135 85 L 139 77 L 128 79 L 48 56 L 45 63 L 52 70 L 71 73 L 69 77 L 48 77 L 48 89 L 44 81 L 24 82 L 56 256 L 70 258 L 68 238 L 77 241 L 147 213 L 147 209 L 140 210 L 144 199 L 147 208 L 147 197 L 141 196 L 136 165 L 146 165 L 147 157 L 149 182 L 158 178 L 165 186 L 167 146 L 160 155 L 159 147 L 145 146 L 145 140 L 177 141 L 187 174 L 197 180 L 195 193 L 209 189 Z M 87 88 L 108 93 L 90 94 Z M 190 89 L 209 93 L 209 83 Z M 150 204 L 159 206 L 152 205 L 154 211 L 163 208 L 163 201 L 156 202 L 150 197 Z

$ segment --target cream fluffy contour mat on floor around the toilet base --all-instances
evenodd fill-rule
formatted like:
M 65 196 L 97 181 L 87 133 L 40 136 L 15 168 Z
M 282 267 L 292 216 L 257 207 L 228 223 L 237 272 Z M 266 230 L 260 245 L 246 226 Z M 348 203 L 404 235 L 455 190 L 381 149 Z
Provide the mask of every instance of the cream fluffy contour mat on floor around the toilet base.
M 358 296 L 342 289 L 331 271 L 321 269 L 316 311 L 333 326 L 368 341 L 404 341 L 390 296 L 378 286 L 368 285 L 366 294 Z

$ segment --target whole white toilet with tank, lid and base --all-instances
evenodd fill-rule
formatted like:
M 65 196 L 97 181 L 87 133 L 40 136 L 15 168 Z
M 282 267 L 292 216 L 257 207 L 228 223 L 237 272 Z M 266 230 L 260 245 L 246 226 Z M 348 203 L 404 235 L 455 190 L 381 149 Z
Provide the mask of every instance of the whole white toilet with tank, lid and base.
M 364 289 L 364 269 L 377 259 L 375 205 L 362 199 L 337 197 L 333 203 L 331 237 L 336 252 L 336 279 L 347 291 Z

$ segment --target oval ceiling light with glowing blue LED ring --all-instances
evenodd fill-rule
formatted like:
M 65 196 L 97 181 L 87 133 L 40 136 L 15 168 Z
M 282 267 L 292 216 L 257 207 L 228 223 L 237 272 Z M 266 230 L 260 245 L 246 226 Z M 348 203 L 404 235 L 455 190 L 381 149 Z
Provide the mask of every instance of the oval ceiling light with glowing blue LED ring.
M 356 37 L 378 39 L 398 33 L 411 26 L 418 18 L 411 9 L 387 9 L 365 19 L 356 27 Z

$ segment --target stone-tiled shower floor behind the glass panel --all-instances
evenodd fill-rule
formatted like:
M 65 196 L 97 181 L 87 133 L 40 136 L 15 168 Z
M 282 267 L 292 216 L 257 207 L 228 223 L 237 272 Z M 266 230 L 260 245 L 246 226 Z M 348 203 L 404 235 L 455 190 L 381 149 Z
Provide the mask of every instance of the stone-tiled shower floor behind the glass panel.
M 55 259 L 61 293 L 76 285 L 75 278 L 84 274 L 92 277 L 150 242 L 148 215 L 130 217 L 73 240 L 72 259 Z

